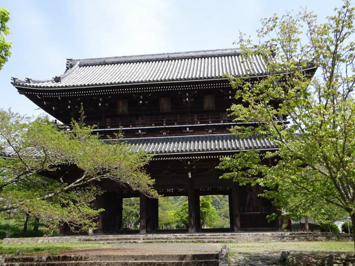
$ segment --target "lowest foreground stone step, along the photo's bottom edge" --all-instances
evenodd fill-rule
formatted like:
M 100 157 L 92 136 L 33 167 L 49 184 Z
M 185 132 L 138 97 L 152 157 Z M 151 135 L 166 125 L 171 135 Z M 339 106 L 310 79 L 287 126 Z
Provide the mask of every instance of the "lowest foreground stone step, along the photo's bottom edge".
M 218 266 L 218 259 L 213 260 L 81 260 L 81 261 L 43 261 L 9 262 L 4 266 Z

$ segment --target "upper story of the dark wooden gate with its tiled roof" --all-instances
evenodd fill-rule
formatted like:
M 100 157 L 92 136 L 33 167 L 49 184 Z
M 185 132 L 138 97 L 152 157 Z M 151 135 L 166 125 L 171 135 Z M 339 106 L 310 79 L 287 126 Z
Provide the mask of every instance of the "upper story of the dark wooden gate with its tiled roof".
M 12 84 L 64 124 L 79 118 L 82 105 L 101 136 L 224 134 L 243 123 L 228 116 L 238 100 L 224 73 L 260 79 L 266 61 L 238 49 L 67 59 L 62 75 Z

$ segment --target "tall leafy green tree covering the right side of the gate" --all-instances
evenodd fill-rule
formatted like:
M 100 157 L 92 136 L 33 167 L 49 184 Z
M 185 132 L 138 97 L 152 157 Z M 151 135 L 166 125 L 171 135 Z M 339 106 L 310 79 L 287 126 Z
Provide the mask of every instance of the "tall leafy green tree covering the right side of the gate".
M 252 46 L 245 35 L 240 36 L 244 59 L 262 56 L 268 76 L 235 78 L 226 74 L 241 101 L 231 106 L 232 114 L 237 121 L 256 122 L 253 127 L 236 126 L 234 132 L 242 137 L 267 136 L 279 150 L 245 151 L 224 158 L 219 167 L 232 170 L 224 178 L 263 186 L 263 196 L 291 215 L 299 211 L 297 206 L 306 210 L 322 202 L 347 212 L 352 225 L 353 21 L 354 8 L 344 1 L 326 23 L 319 24 L 315 14 L 303 10 L 262 20 L 258 45 Z M 317 71 L 312 77 L 314 65 Z M 294 198 L 299 202 L 296 206 L 290 201 Z

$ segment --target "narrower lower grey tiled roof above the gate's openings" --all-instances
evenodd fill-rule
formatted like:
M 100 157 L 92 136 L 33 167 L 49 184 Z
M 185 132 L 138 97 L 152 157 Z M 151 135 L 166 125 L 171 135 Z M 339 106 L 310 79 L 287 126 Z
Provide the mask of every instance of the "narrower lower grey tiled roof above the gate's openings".
M 248 149 L 277 149 L 266 138 L 255 136 L 239 138 L 234 134 L 196 135 L 155 138 L 123 139 L 134 146 L 134 151 L 144 150 L 152 154 L 194 154 L 241 151 Z

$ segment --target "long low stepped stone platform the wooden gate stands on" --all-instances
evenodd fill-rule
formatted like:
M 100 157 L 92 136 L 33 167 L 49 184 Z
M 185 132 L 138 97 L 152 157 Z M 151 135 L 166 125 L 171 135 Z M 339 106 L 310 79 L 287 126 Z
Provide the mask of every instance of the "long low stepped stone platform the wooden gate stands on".
M 233 243 L 267 241 L 352 241 L 351 234 L 305 232 L 258 232 L 258 233 L 194 233 L 194 234 L 135 234 L 56 236 L 41 238 L 6 238 L 7 243 Z

